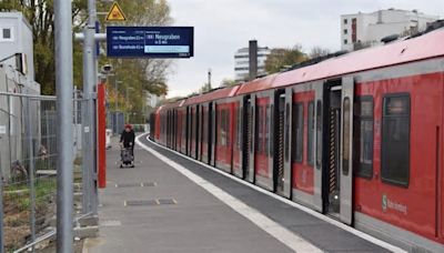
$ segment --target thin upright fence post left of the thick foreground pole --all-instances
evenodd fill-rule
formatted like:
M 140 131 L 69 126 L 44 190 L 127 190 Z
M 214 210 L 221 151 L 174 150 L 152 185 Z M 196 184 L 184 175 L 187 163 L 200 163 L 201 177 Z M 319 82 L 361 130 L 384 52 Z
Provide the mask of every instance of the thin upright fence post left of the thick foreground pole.
M 31 99 L 27 99 L 27 115 L 24 117 L 26 119 L 26 124 L 28 126 L 27 129 L 27 138 L 28 138 L 28 148 L 29 148 L 29 192 L 30 192 L 30 205 L 31 205 L 31 242 L 36 241 L 36 185 L 34 185 L 34 148 L 32 143 L 32 113 L 31 113 L 31 105 L 30 101 Z M 32 246 L 32 252 L 34 251 L 34 246 Z

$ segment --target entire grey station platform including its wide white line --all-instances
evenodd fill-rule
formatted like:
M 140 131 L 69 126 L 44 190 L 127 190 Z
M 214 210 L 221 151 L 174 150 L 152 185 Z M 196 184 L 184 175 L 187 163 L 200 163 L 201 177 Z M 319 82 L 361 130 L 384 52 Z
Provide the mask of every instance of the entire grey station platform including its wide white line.
M 145 135 L 139 140 L 134 169 L 119 169 L 117 145 L 107 153 L 100 236 L 84 252 L 390 252 Z

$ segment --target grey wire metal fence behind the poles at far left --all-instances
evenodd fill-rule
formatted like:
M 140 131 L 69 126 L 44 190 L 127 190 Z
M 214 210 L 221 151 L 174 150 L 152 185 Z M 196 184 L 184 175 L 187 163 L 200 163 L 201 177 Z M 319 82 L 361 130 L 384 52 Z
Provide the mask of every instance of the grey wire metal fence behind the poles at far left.
M 74 101 L 74 185 L 81 185 L 82 100 Z M 57 211 L 57 108 L 54 97 L 0 92 L 0 235 L 6 252 L 38 250 L 54 240 Z M 73 117 L 73 118 L 72 118 Z M 77 189 L 80 189 L 78 186 Z M 0 201 L 1 201 L 0 199 Z M 81 201 L 80 201 L 81 202 Z M 77 205 L 81 205 L 79 202 Z M 81 206 L 78 206 L 79 209 Z M 79 212 L 80 213 L 80 212 Z M 1 219 L 2 215 L 2 219 Z

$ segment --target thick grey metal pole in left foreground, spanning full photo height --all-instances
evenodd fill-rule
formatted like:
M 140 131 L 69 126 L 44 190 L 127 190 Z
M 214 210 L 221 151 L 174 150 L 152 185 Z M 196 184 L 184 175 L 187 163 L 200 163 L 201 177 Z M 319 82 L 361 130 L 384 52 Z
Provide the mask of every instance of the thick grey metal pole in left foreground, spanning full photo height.
M 57 252 L 71 253 L 73 209 L 71 1 L 56 0 Z

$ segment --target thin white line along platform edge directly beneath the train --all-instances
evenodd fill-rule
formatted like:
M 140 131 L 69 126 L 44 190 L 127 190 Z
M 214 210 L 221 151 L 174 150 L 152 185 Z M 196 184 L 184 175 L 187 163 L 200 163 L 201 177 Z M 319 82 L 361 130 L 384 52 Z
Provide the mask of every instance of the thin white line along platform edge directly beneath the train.
M 140 136 L 142 136 L 144 134 L 147 134 L 147 133 L 143 133 L 143 134 L 139 135 L 138 138 L 140 138 Z M 173 152 L 173 153 L 175 153 L 175 154 L 178 154 L 178 155 L 180 155 L 180 156 L 182 156 L 182 158 L 184 158 L 186 160 L 193 161 L 194 163 L 198 163 L 198 164 L 200 164 L 202 166 L 205 166 L 205 168 L 208 168 L 208 169 L 210 169 L 210 170 L 212 170 L 212 171 L 214 171 L 214 172 L 216 172 L 219 174 L 222 174 L 222 175 L 224 175 L 224 176 L 226 176 L 229 179 L 232 179 L 232 180 L 234 180 L 234 181 L 236 181 L 236 182 L 239 182 L 241 184 L 244 184 L 244 185 L 246 185 L 246 186 L 249 186 L 251 189 L 254 189 L 254 190 L 256 190 L 259 192 L 262 192 L 262 193 L 264 193 L 264 194 L 266 194 L 266 195 L 269 195 L 269 196 L 271 196 L 273 199 L 276 199 L 276 200 L 279 200 L 279 201 L 281 201 L 281 202 L 285 203 L 285 204 L 289 204 L 289 205 L 291 205 L 293 208 L 296 208 L 296 209 L 299 209 L 299 210 L 301 210 L 301 211 L 303 211 L 303 212 L 305 212 L 305 213 L 307 213 L 310 215 L 313 215 L 313 216 L 315 216 L 315 217 L 317 217 L 317 219 L 320 219 L 320 220 L 322 220 L 324 222 L 327 222 L 327 223 L 330 223 L 332 225 L 335 225 L 335 226 L 337 226 L 337 227 L 340 227 L 340 229 L 342 229 L 342 230 L 344 230 L 346 232 L 350 232 L 350 233 L 352 233 L 352 234 L 354 234 L 354 235 L 356 235 L 356 236 L 359 236 L 359 237 L 361 237 L 361 239 L 363 239 L 365 241 L 369 241 L 369 242 L 371 242 L 373 244 L 376 244 L 379 246 L 382 246 L 382 247 L 384 247 L 384 249 L 386 249 L 389 251 L 395 252 L 395 253 L 407 253 L 407 251 L 405 251 L 405 250 L 403 250 L 403 249 L 401 249 L 398 246 L 392 245 L 392 244 L 390 244 L 387 242 L 384 242 L 384 241 L 382 241 L 380 239 L 376 239 L 376 237 L 374 237 L 374 236 L 372 236 L 370 234 L 366 234 L 366 233 L 364 233 L 362 231 L 359 231 L 359 230 L 356 230 L 356 229 L 354 229 L 352 226 L 345 225 L 344 223 L 341 223 L 341 222 L 339 222 L 336 220 L 333 220 L 333 219 L 331 219 L 329 216 L 325 216 L 324 214 L 319 213 L 319 212 L 316 212 L 314 210 L 311 210 L 311 209 L 309 209 L 309 208 L 306 208 L 304 205 L 297 204 L 297 203 L 295 203 L 295 202 L 293 202 L 293 201 L 291 201 L 289 199 L 285 199 L 283 196 L 276 195 L 273 192 L 270 192 L 270 191 L 268 191 L 265 189 L 262 189 L 262 188 L 260 188 L 258 185 L 254 185 L 254 184 L 252 184 L 250 182 L 243 181 L 242 179 L 239 179 L 239 178 L 236 178 L 236 176 L 234 176 L 232 174 L 229 174 L 229 173 L 223 172 L 221 170 L 218 170 L 218 169 L 215 169 L 213 166 L 210 166 L 206 163 L 203 163 L 201 161 L 198 161 L 198 160 L 194 160 L 192 158 L 189 158 L 189 156 L 186 156 L 186 155 L 184 155 L 184 154 L 182 154 L 182 153 L 180 153 L 178 151 L 170 150 L 170 149 L 168 149 L 168 148 L 165 148 L 165 146 L 163 146 L 163 145 L 161 145 L 159 143 L 155 143 L 155 142 L 151 141 L 148 135 L 147 135 L 147 140 L 150 143 L 152 143 L 152 144 L 154 144 L 157 146 L 160 146 L 160 148 L 162 148 L 164 150 Z

